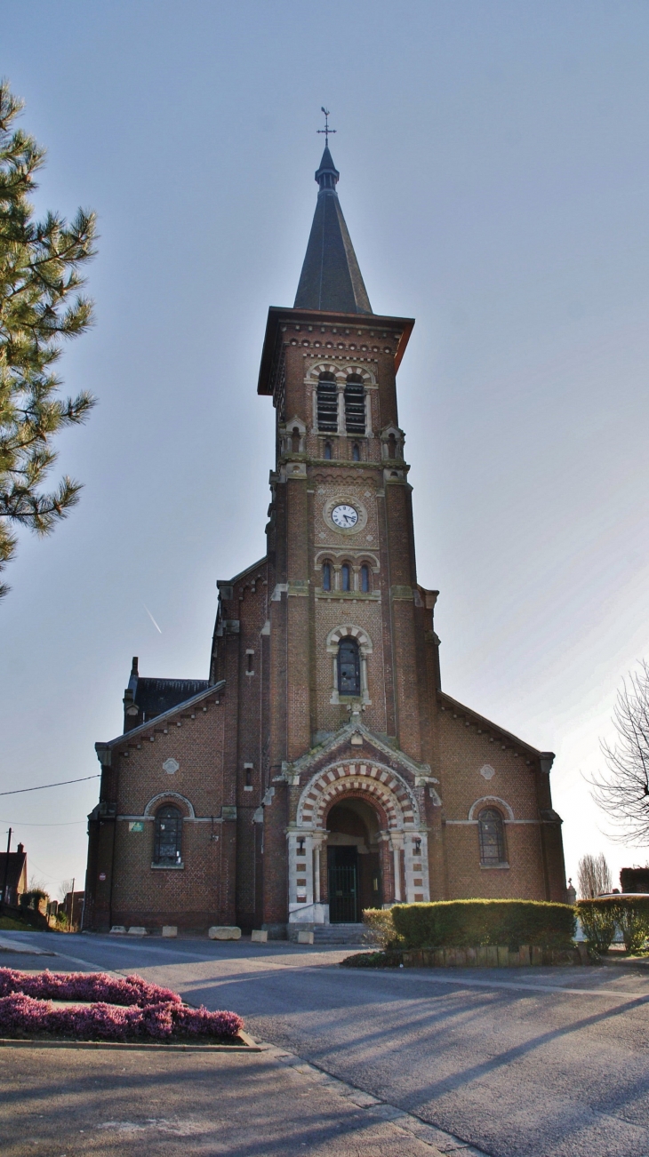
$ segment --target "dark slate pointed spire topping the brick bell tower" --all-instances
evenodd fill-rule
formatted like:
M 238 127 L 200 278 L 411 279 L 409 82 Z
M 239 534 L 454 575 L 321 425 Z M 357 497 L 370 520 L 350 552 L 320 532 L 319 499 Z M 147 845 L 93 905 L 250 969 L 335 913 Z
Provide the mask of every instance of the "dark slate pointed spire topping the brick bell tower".
M 335 192 L 339 177 L 329 145 L 325 145 L 316 172 L 319 185 L 318 201 L 294 308 L 320 309 L 337 314 L 371 314 L 367 289 Z

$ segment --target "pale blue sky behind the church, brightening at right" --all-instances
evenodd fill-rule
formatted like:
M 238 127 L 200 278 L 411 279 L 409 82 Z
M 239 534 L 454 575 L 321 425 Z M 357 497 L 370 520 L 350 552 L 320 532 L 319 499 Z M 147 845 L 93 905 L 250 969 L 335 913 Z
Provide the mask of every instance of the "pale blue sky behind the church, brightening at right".
M 324 104 L 373 308 L 416 318 L 399 417 L 444 690 L 556 753 L 568 875 L 648 860 L 588 783 L 649 657 L 648 49 L 626 0 L 3 6 L 37 212 L 91 207 L 101 237 L 59 363 L 98 398 L 58 439 L 81 502 L 21 535 L 0 604 L 0 791 L 98 774 L 133 655 L 207 677 L 216 580 L 265 551 L 257 374 Z M 0 796 L 52 896 L 83 879 L 97 784 Z

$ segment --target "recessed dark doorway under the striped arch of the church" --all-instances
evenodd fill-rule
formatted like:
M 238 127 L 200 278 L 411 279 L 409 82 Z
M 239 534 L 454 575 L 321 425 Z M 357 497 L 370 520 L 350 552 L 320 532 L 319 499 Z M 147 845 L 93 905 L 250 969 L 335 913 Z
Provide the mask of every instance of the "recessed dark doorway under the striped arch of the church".
M 330 923 L 357 923 L 363 908 L 379 908 L 379 818 L 364 799 L 335 803 L 326 818 Z

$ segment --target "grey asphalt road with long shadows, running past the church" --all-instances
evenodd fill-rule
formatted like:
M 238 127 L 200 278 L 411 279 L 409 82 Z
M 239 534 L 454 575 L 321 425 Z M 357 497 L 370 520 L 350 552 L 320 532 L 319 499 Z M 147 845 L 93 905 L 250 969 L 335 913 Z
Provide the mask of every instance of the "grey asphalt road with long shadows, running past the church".
M 340 949 L 29 939 L 61 955 L 0 963 L 137 971 L 234 1009 L 257 1040 L 493 1157 L 649 1155 L 642 967 L 356 972 L 337 967 Z

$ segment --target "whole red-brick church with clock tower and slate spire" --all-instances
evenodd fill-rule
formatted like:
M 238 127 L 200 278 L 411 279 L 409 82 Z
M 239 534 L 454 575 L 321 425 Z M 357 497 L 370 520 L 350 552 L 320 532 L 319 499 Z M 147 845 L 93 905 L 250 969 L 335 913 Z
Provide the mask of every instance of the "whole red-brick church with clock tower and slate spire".
M 295 304 L 268 310 L 266 554 L 217 582 L 206 679 L 133 659 L 96 744 L 87 929 L 344 939 L 401 901 L 566 900 L 552 752 L 442 690 L 397 405 L 414 322 L 373 312 L 339 176 L 327 143 Z

